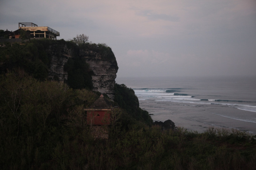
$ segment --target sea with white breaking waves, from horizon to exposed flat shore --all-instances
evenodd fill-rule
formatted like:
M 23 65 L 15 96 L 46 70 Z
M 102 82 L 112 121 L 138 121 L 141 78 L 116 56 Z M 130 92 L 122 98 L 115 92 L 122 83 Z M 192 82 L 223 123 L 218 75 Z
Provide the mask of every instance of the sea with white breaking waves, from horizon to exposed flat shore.
M 256 123 L 256 77 L 117 77 L 118 84 L 132 88 L 140 107 L 179 102 L 186 106 L 219 105 L 246 110 L 243 114 L 212 112 L 234 120 Z M 163 103 L 163 105 L 161 105 Z M 159 105 L 160 104 L 160 105 Z M 168 107 L 169 109 L 169 107 Z M 177 111 L 178 112 L 178 111 Z M 256 124 L 255 124 L 256 126 Z

